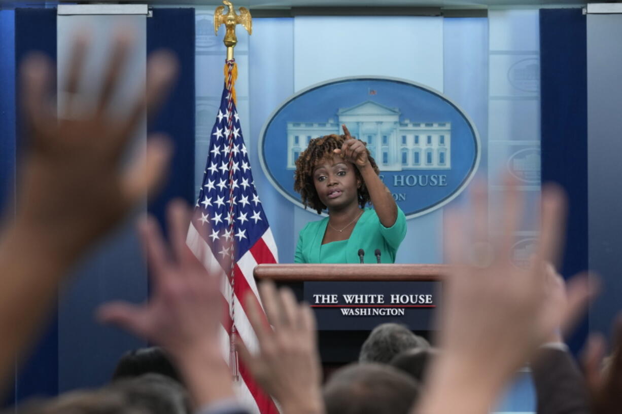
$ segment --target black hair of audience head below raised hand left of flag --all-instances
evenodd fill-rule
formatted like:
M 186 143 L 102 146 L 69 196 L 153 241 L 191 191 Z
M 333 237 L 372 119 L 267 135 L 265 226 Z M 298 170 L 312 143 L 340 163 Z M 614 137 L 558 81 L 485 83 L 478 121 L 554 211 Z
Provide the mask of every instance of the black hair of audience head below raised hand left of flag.
M 126 352 L 117 362 L 112 380 L 134 378 L 149 373 L 166 375 L 183 383 L 167 352 L 157 346 Z

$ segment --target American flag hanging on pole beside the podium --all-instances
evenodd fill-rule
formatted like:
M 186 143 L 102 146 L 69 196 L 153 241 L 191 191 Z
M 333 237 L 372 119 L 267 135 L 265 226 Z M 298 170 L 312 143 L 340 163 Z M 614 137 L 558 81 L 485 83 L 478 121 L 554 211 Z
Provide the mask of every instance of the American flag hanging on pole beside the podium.
M 253 412 L 278 413 L 272 399 L 259 389 L 242 361 L 238 364 L 235 352 L 230 352 L 233 335 L 238 336 L 249 351 L 258 349 L 244 310 L 244 296 L 246 292 L 253 292 L 259 299 L 253 269 L 261 263 L 276 263 L 277 249 L 254 186 L 232 96 L 234 79 L 231 74 L 235 70 L 232 61 L 227 62 L 227 69 L 228 79 L 211 129 L 206 169 L 187 244 L 208 269 L 218 261 L 221 266 L 228 267 L 224 269 L 226 274 L 233 275 L 222 286 L 223 305 L 229 310 L 222 323 L 222 336 L 226 359 L 230 360 L 233 372 L 236 375 L 239 372 L 239 397 Z M 225 265 L 231 260 L 231 265 Z

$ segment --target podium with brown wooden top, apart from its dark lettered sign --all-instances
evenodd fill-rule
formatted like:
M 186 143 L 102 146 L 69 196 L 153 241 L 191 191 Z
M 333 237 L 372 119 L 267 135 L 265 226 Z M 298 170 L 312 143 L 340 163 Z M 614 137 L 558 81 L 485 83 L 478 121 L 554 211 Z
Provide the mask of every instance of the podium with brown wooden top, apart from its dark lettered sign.
M 254 277 L 286 285 L 299 300 L 305 297 L 305 282 L 442 282 L 448 266 L 439 264 L 261 264 Z M 355 320 L 355 319 L 354 319 Z M 318 331 L 320 356 L 325 367 L 358 360 L 361 345 L 370 329 Z M 416 330 L 429 338 L 430 330 Z

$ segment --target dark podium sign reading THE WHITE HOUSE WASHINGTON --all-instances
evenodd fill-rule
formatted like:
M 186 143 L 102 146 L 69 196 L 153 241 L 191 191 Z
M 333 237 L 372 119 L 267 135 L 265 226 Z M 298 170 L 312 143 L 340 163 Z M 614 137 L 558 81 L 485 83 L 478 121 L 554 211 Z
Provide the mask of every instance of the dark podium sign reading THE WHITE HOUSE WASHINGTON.
M 320 331 L 365 331 L 387 322 L 430 331 L 440 295 L 438 281 L 304 282 Z

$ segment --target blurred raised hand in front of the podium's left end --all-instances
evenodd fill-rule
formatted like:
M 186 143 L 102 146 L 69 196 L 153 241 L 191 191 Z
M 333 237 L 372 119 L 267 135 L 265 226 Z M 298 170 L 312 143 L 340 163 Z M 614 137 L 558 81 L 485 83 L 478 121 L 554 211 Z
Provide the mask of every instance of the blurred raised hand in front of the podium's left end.
M 240 356 L 261 387 L 281 404 L 285 414 L 323 413 L 320 358 L 311 308 L 298 305 L 288 288 L 277 292 L 272 282 L 261 283 L 259 292 L 274 329 L 268 326 L 261 306 L 249 293 L 246 308 L 257 335 L 259 352 L 251 354 L 238 340 Z

